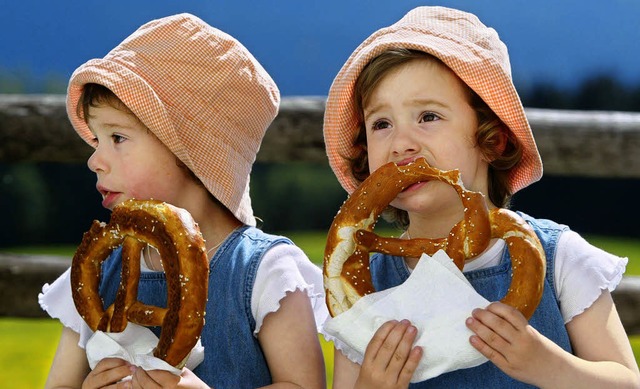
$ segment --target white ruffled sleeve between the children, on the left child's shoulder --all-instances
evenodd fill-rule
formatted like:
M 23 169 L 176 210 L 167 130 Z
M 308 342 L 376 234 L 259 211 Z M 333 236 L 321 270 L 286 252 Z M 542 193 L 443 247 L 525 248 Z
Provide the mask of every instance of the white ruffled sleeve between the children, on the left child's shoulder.
M 269 249 L 262 258 L 251 294 L 251 312 L 256 320 L 257 336 L 265 316 L 280 308 L 280 300 L 295 290 L 307 293 L 320 329 L 329 316 L 324 300 L 322 271 L 313 264 L 299 247 L 278 244 Z

